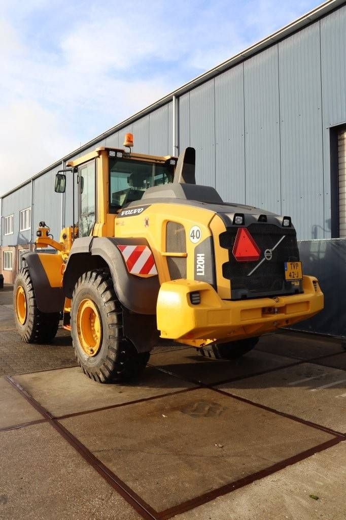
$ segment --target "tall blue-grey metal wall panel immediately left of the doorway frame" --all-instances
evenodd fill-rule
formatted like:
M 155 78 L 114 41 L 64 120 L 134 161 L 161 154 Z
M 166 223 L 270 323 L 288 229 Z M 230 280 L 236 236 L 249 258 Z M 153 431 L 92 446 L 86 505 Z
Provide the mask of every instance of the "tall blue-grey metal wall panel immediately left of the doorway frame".
M 320 23 L 278 44 L 282 212 L 324 238 Z

